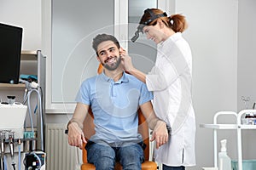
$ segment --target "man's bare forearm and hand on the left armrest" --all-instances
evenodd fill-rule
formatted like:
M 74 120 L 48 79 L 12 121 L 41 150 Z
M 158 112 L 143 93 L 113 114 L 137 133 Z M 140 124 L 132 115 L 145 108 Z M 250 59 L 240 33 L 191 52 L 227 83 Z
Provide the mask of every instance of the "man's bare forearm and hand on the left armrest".
M 83 122 L 88 113 L 89 105 L 77 103 L 72 119 L 67 123 L 68 144 L 83 149 L 86 143 L 83 133 Z

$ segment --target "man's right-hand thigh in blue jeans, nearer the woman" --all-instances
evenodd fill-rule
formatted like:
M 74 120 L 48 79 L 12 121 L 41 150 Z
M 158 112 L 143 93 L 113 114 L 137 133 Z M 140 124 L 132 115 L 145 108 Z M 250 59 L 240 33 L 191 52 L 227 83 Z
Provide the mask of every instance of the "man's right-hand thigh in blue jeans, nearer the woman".
M 120 147 L 117 152 L 123 170 L 141 170 L 144 161 L 143 148 L 139 144 Z

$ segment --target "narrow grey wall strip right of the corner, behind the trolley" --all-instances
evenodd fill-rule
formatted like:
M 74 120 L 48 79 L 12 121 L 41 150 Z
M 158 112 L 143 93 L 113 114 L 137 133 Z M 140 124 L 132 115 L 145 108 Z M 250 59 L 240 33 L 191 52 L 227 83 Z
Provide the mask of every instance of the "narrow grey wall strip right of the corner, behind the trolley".
M 239 1 L 239 22 L 238 22 L 238 94 L 237 105 L 238 111 L 245 109 L 241 96 L 249 97 L 247 107 L 251 109 L 256 102 L 255 93 L 255 65 L 256 65 L 256 1 L 241 0 Z M 244 159 L 255 159 L 255 131 L 242 132 L 242 146 Z M 253 149 L 253 150 L 252 150 Z

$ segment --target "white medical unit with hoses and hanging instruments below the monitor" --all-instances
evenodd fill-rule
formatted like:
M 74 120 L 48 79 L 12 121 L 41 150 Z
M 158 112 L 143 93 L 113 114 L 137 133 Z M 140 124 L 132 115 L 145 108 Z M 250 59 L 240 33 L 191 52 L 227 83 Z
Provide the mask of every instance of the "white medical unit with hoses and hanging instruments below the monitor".
M 29 143 L 32 142 L 32 144 L 29 144 L 30 146 L 35 146 L 34 149 L 31 150 L 27 150 L 27 153 L 24 153 L 24 156 L 28 156 L 26 157 L 25 160 L 31 160 L 29 158 L 29 156 L 32 156 L 34 158 L 36 158 L 36 161 L 31 161 L 32 162 L 32 166 L 35 165 L 36 162 L 36 166 L 32 167 L 31 165 L 27 167 L 27 169 L 35 169 L 35 170 L 43 170 L 45 167 L 45 161 L 44 161 L 44 157 L 45 157 L 45 153 L 44 151 L 44 138 L 43 138 L 43 117 L 42 117 L 42 112 L 43 112 L 43 108 L 42 108 L 42 100 L 41 99 L 41 91 L 40 88 L 38 87 L 38 83 L 34 82 L 25 82 L 26 83 L 26 94 L 24 95 L 24 104 L 27 102 L 27 105 L 23 105 L 17 101 L 15 101 L 15 96 L 7 96 L 8 101 L 5 102 L 1 102 L 0 103 L 0 116 L 2 117 L 0 119 L 0 170 L 7 170 L 7 169 L 11 169 L 9 167 L 9 164 L 7 164 L 7 162 L 9 162 L 8 160 L 11 159 L 11 167 L 12 169 L 15 170 L 15 156 L 18 156 L 18 168 L 19 170 L 21 170 L 22 166 L 22 161 L 21 161 L 21 144 L 24 143 L 26 144 L 26 141 L 28 141 Z M 24 133 L 24 127 L 26 127 L 24 124 L 25 120 L 26 120 L 26 111 L 29 111 L 29 116 L 32 120 L 32 111 L 31 111 L 31 103 L 30 103 L 30 98 L 31 98 L 31 94 L 35 93 L 38 94 L 38 103 L 36 108 L 38 109 L 38 112 L 40 114 L 40 120 L 41 120 L 41 130 L 42 133 L 40 133 L 42 135 L 41 137 L 41 144 L 33 144 L 36 143 L 36 139 L 35 139 L 35 135 L 34 135 L 34 129 L 33 129 L 33 124 L 32 124 L 32 133 L 29 133 L 30 139 L 26 139 L 25 138 L 25 133 Z M 28 110 L 29 108 L 29 110 Z M 35 111 L 36 113 L 36 111 Z M 39 128 L 38 128 L 39 129 Z M 15 139 L 16 138 L 16 139 Z M 17 146 L 16 152 L 18 152 L 17 155 L 15 155 L 15 146 Z M 39 148 L 41 149 L 37 149 L 36 150 L 36 146 L 39 146 Z M 24 146 L 23 150 L 26 147 Z M 30 147 L 32 148 L 32 147 Z M 36 150 L 36 151 L 35 151 Z M 38 151 L 40 150 L 40 151 Z M 31 156 L 31 157 L 32 157 Z M 23 162 L 24 162 L 23 161 Z M 29 162 L 26 162 L 26 165 L 28 165 Z M 44 165 L 44 166 L 43 166 Z

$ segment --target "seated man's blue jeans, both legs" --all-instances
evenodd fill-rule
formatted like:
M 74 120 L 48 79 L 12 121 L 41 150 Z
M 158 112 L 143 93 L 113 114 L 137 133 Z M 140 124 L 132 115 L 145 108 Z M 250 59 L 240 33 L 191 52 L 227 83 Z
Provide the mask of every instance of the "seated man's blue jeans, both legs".
M 111 147 L 108 144 L 96 144 L 88 141 L 85 146 L 87 161 L 93 163 L 96 170 L 113 170 L 115 161 L 119 161 L 123 170 L 141 170 L 144 161 L 143 147 L 131 144 Z

